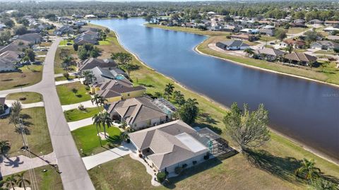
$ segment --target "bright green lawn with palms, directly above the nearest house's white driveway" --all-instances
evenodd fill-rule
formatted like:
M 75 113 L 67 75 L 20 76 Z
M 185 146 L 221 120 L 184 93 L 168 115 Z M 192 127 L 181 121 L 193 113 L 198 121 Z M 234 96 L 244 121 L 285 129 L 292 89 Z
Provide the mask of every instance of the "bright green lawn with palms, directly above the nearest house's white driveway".
M 101 128 L 99 131 L 102 132 L 103 129 Z M 103 147 L 100 147 L 97 129 L 94 125 L 81 127 L 80 129 L 76 129 L 71 133 L 73 135 L 74 141 L 76 141 L 78 150 L 83 149 L 82 156 L 100 153 L 107 150 L 107 148 L 119 146 L 121 143 L 121 131 L 115 126 L 111 126 L 107 129 L 107 136 L 109 136 L 109 139 L 101 141 Z

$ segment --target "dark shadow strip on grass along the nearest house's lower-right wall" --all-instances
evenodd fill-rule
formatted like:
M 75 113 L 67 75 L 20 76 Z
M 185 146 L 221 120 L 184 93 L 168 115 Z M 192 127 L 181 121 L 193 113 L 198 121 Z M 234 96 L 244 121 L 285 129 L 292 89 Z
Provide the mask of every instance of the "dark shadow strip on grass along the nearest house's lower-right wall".
M 209 170 L 210 168 L 220 165 L 221 163 L 222 162 L 218 158 L 212 158 L 210 160 L 206 160 L 206 162 L 203 162 L 199 165 L 195 165 L 193 167 L 187 168 L 186 170 L 182 171 L 182 173 L 179 174 L 177 177 L 171 177 L 167 179 L 168 181 L 165 182 L 164 186 L 168 189 L 174 189 L 176 187 L 175 184 L 177 182 L 180 182 L 186 178 L 189 178 L 205 170 Z

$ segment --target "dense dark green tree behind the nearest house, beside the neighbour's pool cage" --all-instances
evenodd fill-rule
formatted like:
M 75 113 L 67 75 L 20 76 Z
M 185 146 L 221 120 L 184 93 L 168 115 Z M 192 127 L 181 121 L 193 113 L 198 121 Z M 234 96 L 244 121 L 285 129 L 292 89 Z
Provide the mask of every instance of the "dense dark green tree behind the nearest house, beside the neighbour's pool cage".
M 193 124 L 199 114 L 198 102 L 196 99 L 187 99 L 184 105 L 179 108 L 179 118 L 186 124 Z

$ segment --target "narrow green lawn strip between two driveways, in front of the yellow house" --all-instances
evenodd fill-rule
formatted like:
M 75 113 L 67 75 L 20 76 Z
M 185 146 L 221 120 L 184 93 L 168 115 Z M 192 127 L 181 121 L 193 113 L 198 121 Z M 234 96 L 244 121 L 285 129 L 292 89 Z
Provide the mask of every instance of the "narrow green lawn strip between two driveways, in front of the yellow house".
M 102 111 L 103 107 L 100 107 L 99 109 Z M 79 109 L 70 109 L 64 112 L 67 122 L 93 117 L 97 113 L 99 113 L 97 107 L 88 107 L 83 111 Z

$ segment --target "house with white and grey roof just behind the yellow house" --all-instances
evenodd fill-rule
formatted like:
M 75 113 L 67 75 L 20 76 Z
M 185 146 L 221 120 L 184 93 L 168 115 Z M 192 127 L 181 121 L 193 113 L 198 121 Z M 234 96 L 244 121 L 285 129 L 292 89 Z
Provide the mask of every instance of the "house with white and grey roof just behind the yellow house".
M 93 75 L 95 76 L 95 81 L 97 83 L 108 82 L 110 80 L 126 80 L 126 73 L 118 68 L 113 68 L 111 70 L 106 68 L 101 68 L 99 66 L 95 66 L 95 68 L 90 69 Z

